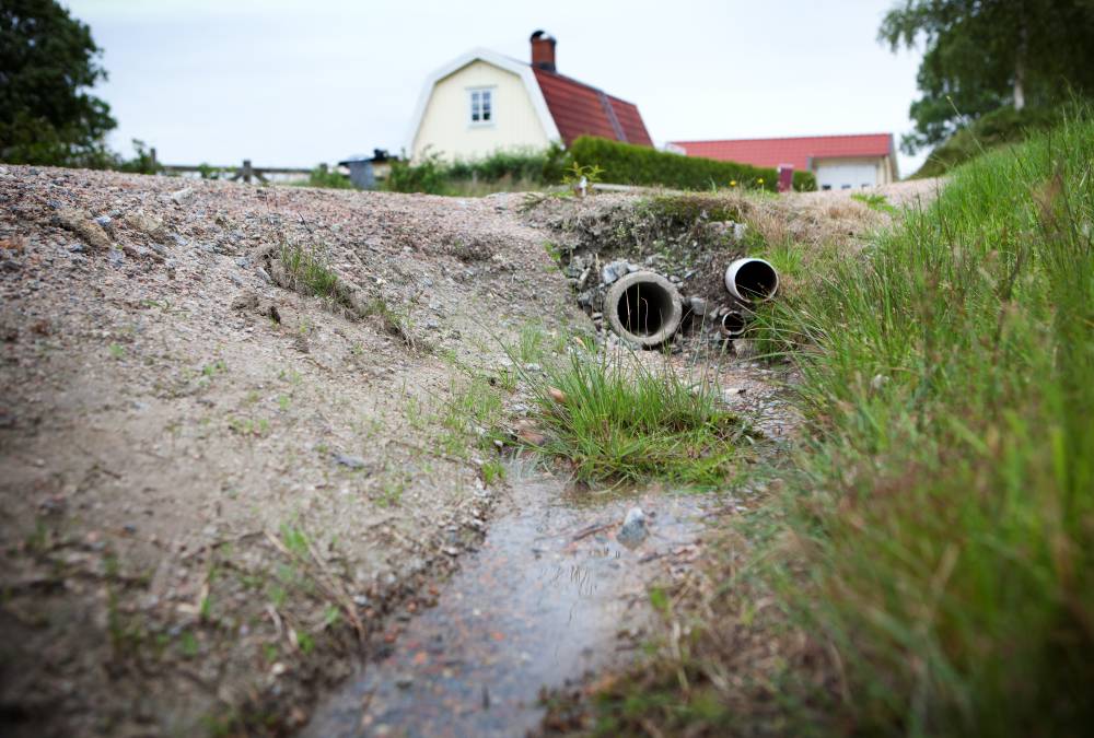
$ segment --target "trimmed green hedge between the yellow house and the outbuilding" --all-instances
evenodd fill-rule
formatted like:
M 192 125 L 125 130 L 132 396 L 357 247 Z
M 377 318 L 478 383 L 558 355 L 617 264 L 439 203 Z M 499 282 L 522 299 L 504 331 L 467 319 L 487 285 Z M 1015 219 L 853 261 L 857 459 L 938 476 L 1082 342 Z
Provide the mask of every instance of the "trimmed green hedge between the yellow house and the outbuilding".
M 573 142 L 569 159 L 582 165 L 600 166 L 604 169 L 601 179 L 617 185 L 710 189 L 736 183 L 737 187 L 761 187 L 775 192 L 779 183 L 779 174 L 772 168 L 682 156 L 591 136 L 582 136 Z M 794 172 L 794 189 L 815 190 L 813 173 Z

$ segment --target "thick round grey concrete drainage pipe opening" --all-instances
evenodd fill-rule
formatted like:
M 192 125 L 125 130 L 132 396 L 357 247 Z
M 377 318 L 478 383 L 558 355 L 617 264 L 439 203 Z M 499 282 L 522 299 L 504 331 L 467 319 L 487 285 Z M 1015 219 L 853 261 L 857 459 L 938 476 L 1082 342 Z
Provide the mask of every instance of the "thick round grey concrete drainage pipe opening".
M 680 327 L 684 308 L 672 282 L 652 271 L 636 271 L 608 290 L 604 315 L 612 330 L 649 349 L 673 337 Z

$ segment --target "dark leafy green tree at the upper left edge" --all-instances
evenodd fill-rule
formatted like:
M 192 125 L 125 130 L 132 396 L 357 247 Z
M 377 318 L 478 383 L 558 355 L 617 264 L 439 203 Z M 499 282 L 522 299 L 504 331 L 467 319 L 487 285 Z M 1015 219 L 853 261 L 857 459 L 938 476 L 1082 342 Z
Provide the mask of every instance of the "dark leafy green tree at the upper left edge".
M 88 93 L 106 79 L 91 30 L 56 0 L 0 0 L 0 160 L 106 166 L 117 124 Z

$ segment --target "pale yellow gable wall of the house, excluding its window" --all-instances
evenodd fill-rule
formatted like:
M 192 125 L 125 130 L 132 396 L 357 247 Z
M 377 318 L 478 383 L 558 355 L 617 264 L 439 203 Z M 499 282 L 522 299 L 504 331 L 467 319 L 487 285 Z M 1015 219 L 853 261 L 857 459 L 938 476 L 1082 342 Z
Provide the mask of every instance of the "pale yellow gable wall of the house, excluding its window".
M 491 87 L 493 117 L 488 125 L 470 122 L 469 90 Z M 549 143 L 524 82 L 512 72 L 476 60 L 433 85 L 412 156 L 427 147 L 446 160 L 479 159 L 497 149 L 545 148 Z

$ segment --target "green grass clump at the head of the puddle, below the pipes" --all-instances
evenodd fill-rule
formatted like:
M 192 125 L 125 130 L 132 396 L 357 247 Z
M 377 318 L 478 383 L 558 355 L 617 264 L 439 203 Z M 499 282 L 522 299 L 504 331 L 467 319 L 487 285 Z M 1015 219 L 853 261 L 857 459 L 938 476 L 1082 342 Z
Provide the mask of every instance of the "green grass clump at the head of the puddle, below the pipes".
M 527 377 L 546 431 L 542 450 L 578 478 L 718 487 L 734 476 L 745 426 L 684 373 L 583 351 L 544 368 L 545 378 Z

